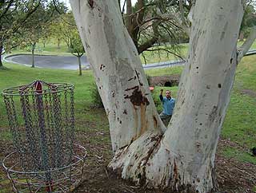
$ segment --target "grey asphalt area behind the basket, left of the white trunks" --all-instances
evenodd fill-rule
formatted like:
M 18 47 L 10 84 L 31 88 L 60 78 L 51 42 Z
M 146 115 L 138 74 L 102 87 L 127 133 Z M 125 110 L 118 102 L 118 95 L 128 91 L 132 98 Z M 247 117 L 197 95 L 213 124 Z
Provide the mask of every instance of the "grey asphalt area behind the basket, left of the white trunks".
M 17 54 L 5 57 L 6 61 L 20 65 L 32 65 L 32 56 L 28 54 Z M 89 68 L 89 62 L 82 56 L 82 68 Z M 78 69 L 78 57 L 75 56 L 34 56 L 34 65 L 39 68 L 49 69 Z

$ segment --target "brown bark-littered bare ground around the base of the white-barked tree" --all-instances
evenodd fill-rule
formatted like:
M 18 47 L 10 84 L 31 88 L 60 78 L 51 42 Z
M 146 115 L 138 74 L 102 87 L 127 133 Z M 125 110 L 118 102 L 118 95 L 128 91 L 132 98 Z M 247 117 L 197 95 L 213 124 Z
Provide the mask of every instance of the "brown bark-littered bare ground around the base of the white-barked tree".
M 95 132 L 85 133 L 77 132 L 78 143 L 82 144 L 88 150 L 86 160 L 85 180 L 76 193 L 164 193 L 158 189 L 147 189 L 139 187 L 134 183 L 120 179 L 118 176 L 107 171 L 106 166 L 109 163 L 112 152 L 110 141 L 91 140 L 100 136 L 109 135 L 106 131 L 97 129 Z M 225 147 L 236 147 L 237 144 L 226 140 L 220 140 L 218 149 Z M 0 160 L 7 153 L 11 152 L 10 143 L 0 141 Z M 237 147 L 239 148 L 239 147 Z M 240 147 L 242 148 L 242 147 Z M 256 157 L 255 157 L 256 159 Z M 254 193 L 256 186 L 256 165 L 253 163 L 241 163 L 234 158 L 228 159 L 219 156 L 217 153 L 216 174 L 218 181 L 218 192 L 222 193 Z M 10 183 L 6 179 L 4 171 L 0 170 L 0 192 L 9 193 L 11 191 Z M 170 193 L 170 192 L 169 192 Z

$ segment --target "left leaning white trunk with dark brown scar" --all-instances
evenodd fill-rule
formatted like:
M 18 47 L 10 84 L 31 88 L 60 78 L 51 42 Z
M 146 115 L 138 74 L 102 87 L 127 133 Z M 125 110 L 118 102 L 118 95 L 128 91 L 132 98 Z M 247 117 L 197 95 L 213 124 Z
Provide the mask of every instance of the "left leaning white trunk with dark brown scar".
M 146 131 L 161 133 L 165 126 L 158 117 L 137 49 L 123 26 L 118 2 L 89 2 L 71 1 L 71 5 L 116 151 Z

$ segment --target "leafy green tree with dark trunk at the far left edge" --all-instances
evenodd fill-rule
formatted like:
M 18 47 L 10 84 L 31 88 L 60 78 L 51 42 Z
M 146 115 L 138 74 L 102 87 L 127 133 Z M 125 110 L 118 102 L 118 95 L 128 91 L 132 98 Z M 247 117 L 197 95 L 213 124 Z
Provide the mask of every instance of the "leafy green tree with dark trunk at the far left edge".
M 2 65 L 2 54 L 18 45 L 19 42 L 16 41 L 15 34 L 30 18 L 30 15 L 37 10 L 41 2 L 41 0 L 0 2 L 0 69 L 5 69 Z

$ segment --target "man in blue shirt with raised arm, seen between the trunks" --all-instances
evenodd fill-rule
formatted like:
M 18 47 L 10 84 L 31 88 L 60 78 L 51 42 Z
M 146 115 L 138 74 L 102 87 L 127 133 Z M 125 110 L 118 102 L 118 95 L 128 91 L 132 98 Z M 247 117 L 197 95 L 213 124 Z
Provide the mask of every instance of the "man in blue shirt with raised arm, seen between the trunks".
M 159 116 L 164 122 L 169 123 L 173 115 L 175 99 L 170 96 L 170 90 L 166 90 L 166 97 L 162 97 L 162 92 L 163 89 L 160 90 L 159 98 L 162 101 L 163 111 Z

